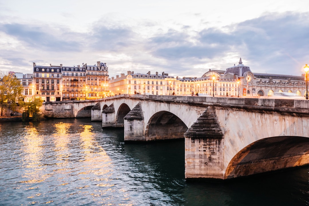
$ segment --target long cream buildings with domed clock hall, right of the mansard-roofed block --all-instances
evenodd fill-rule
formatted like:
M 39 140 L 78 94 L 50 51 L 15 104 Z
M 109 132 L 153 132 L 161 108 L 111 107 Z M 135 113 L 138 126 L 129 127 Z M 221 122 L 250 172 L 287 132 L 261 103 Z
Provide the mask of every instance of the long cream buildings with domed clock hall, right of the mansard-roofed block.
M 274 92 L 292 92 L 299 96 L 306 93 L 303 76 L 253 73 L 249 66 L 238 65 L 225 70 L 211 70 L 201 77 L 173 77 L 167 73 L 146 74 L 128 71 L 109 80 L 111 95 L 196 95 L 215 96 L 271 96 Z

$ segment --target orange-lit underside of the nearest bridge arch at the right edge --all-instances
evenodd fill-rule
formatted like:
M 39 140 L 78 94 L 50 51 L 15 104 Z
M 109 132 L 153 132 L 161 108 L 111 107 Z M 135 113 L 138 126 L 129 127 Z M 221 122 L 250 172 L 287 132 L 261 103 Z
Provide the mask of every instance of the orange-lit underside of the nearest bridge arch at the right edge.
M 228 164 L 224 179 L 309 164 L 308 137 L 268 137 L 241 149 Z

